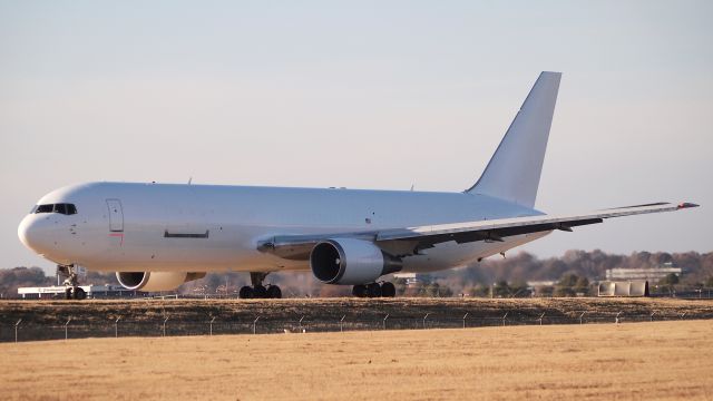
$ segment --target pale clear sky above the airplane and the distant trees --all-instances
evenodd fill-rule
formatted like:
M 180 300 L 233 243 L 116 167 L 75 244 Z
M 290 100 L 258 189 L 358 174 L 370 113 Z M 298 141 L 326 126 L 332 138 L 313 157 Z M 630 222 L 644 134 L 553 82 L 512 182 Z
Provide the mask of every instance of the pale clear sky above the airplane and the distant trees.
M 713 251 L 710 1 L 0 1 L 0 266 L 89 180 L 462 190 L 563 71 L 537 207 L 691 200 L 522 247 Z

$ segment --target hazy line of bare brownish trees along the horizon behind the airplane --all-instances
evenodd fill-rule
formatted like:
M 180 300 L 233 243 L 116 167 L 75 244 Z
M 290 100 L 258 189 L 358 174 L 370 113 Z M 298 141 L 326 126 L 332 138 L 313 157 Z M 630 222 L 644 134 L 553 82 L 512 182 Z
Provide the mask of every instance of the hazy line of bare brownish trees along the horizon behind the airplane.
M 607 268 L 651 268 L 671 264 L 683 268 L 682 277 L 666 277 L 664 287 L 713 287 L 713 253 L 634 252 L 629 255 L 608 254 L 603 251 L 567 251 L 557 257 L 539 258 L 527 252 L 507 257 L 492 256 L 467 267 L 437 272 L 418 285 L 407 286 L 403 280 L 392 280 L 399 295 L 409 296 L 471 296 L 515 297 L 529 296 L 527 282 L 554 281 L 545 293 L 538 295 L 574 296 L 592 294 L 593 284 L 605 278 Z M 389 280 L 389 277 L 385 277 Z M 208 273 L 204 278 L 186 283 L 178 288 L 183 294 L 232 295 L 248 284 L 244 272 Z M 114 273 L 88 272 L 86 283 L 118 284 Z M 284 296 L 346 296 L 351 287 L 324 285 L 310 272 L 274 273 L 266 283 L 281 286 Z M 0 268 L 0 294 L 17 297 L 19 286 L 46 286 L 56 284 L 53 276 L 45 275 L 39 267 Z

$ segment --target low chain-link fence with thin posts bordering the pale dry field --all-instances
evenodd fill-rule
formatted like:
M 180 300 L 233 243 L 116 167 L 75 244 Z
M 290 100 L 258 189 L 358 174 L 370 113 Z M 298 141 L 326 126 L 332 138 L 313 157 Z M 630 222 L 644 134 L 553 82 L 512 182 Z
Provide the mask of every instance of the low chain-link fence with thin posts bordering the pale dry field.
M 43 341 L 86 338 L 124 338 L 124 336 L 176 336 L 176 335 L 225 335 L 225 334 L 276 334 L 305 332 L 345 332 L 373 330 L 427 330 L 427 329 L 466 329 L 482 326 L 510 325 L 551 325 L 551 324 L 603 324 L 626 322 L 652 322 L 684 319 L 701 319 L 700 316 L 636 314 L 627 315 L 622 312 L 582 313 L 578 315 L 517 316 L 505 313 L 502 316 L 434 316 L 426 314 L 421 317 L 400 316 L 369 316 L 324 320 L 313 316 L 299 319 L 271 319 L 255 316 L 252 320 L 221 321 L 173 321 L 165 317 L 160 321 L 133 322 L 130 319 L 109 321 L 106 323 L 84 323 L 68 320 L 64 324 L 23 323 L 0 324 L 0 342 Z

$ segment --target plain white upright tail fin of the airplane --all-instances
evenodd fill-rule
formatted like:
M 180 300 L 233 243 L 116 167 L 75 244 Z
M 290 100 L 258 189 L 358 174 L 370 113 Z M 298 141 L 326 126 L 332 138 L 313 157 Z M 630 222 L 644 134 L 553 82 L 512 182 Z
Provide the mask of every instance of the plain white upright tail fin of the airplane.
M 471 194 L 534 207 L 561 72 L 541 72 Z

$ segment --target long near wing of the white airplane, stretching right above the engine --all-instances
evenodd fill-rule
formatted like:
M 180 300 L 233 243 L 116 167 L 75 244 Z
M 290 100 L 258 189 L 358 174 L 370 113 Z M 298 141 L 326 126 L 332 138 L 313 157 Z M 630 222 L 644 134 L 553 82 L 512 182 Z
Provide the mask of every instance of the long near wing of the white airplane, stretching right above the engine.
M 477 222 L 436 224 L 417 227 L 385 228 L 371 232 L 328 233 L 307 235 L 276 235 L 261 241 L 257 250 L 289 260 L 307 260 L 312 247 L 328 238 L 351 237 L 374 242 L 394 256 L 418 254 L 436 244 L 455 241 L 459 244 L 486 241 L 500 242 L 504 237 L 561 229 L 602 223 L 605 218 L 632 216 L 648 213 L 675 212 L 699 205 L 681 203 L 654 203 L 646 205 L 616 207 L 594 213 L 570 215 L 538 215 L 485 219 Z

